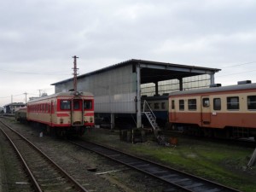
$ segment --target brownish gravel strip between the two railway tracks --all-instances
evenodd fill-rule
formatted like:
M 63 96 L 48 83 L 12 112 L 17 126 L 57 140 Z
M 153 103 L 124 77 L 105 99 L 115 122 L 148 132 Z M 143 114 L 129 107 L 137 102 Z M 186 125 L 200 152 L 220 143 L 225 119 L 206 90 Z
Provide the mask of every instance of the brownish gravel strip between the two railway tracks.
M 35 129 L 29 125 L 20 125 L 20 123 L 15 122 L 13 119 L 9 119 L 7 122 L 16 131 L 21 132 L 26 138 L 31 140 L 32 143 L 36 143 L 38 148 L 41 148 L 58 165 L 71 173 L 79 183 L 84 185 L 85 189 L 99 192 L 156 192 L 168 189 L 166 183 L 145 176 L 141 172 L 135 172 L 111 160 L 106 160 L 100 155 L 85 151 L 67 143 L 63 139 L 49 136 L 39 137 L 40 128 Z M 118 136 L 115 134 L 115 137 Z M 4 142 L 2 137 L 0 139 L 1 142 Z M 8 154 L 8 156 L 13 155 Z M 5 169 L 7 173 L 14 172 L 9 167 L 5 167 Z

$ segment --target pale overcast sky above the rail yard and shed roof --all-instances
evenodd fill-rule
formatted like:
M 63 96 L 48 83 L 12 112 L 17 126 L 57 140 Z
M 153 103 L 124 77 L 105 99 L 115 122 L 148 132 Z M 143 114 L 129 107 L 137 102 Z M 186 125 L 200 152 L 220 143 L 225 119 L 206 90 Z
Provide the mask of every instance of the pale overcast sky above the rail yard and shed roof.
M 255 0 L 9 0 L 0 6 L 0 106 L 141 59 L 220 68 L 256 83 Z

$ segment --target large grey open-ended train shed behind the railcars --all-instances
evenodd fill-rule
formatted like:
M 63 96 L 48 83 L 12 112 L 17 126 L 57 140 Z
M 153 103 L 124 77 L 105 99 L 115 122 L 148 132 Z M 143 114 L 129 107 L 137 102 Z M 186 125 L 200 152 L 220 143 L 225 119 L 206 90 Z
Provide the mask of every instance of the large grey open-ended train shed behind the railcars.
M 161 96 L 172 91 L 206 88 L 214 84 L 218 68 L 195 67 L 166 62 L 129 60 L 79 75 L 77 90 L 95 96 L 95 116 L 130 116 L 142 127 L 142 96 Z M 51 84 L 55 93 L 73 89 L 73 79 Z M 166 109 L 167 110 L 167 109 Z

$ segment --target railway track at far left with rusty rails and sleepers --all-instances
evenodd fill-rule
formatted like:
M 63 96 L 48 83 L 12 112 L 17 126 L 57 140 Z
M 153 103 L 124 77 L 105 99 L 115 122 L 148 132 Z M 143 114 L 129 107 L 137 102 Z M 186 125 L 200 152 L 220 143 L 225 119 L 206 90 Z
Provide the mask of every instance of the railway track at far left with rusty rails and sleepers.
M 55 164 L 46 154 L 9 125 L 0 120 L 0 130 L 12 143 L 30 177 L 35 191 L 81 191 L 88 190 L 76 182 L 67 172 Z

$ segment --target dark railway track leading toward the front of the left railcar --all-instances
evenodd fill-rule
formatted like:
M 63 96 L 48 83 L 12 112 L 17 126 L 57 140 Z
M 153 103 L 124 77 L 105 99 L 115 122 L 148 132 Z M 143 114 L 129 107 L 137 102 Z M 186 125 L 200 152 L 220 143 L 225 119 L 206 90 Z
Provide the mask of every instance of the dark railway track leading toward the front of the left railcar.
M 107 148 L 96 143 L 84 141 L 70 141 L 82 148 L 89 149 L 97 154 L 102 154 L 108 159 L 115 160 L 125 166 L 130 166 L 137 171 L 144 172 L 150 176 L 156 177 L 166 183 L 189 192 L 239 192 L 237 189 L 231 189 L 219 183 L 214 183 L 201 177 L 195 177 L 185 172 L 180 172 L 167 166 L 162 166 L 149 160 L 138 158 L 131 154 L 125 154 L 113 148 Z M 166 191 L 175 191 L 173 188 Z

